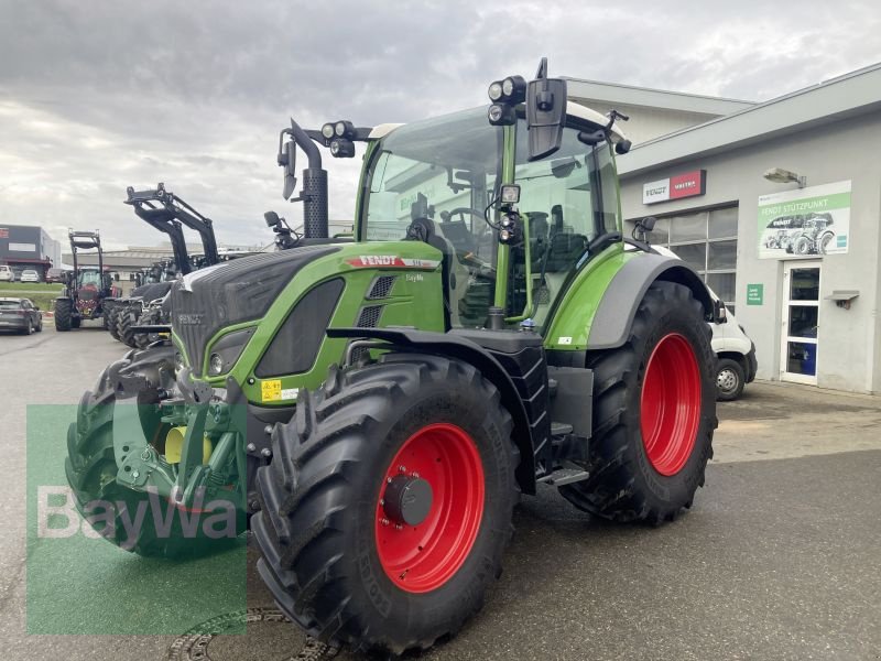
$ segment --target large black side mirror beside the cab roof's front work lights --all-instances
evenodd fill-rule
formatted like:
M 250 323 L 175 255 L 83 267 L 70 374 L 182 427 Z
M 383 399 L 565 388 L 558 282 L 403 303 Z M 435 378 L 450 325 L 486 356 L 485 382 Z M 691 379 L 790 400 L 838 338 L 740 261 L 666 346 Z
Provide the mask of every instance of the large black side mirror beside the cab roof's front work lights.
M 535 80 L 526 89 L 526 123 L 530 130 L 530 161 L 553 154 L 563 140 L 567 102 L 566 80 L 547 77 L 542 58 Z

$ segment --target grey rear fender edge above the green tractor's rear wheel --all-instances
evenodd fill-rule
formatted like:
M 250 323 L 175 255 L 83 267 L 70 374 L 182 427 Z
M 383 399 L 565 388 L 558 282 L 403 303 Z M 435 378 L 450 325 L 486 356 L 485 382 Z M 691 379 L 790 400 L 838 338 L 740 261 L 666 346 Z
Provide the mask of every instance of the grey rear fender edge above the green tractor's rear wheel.
M 672 257 L 640 252 L 624 263 L 606 289 L 590 325 L 587 342 L 590 350 L 614 349 L 627 342 L 637 308 L 657 280 L 687 286 L 704 306 L 707 319 L 715 319 L 713 299 L 694 269 Z

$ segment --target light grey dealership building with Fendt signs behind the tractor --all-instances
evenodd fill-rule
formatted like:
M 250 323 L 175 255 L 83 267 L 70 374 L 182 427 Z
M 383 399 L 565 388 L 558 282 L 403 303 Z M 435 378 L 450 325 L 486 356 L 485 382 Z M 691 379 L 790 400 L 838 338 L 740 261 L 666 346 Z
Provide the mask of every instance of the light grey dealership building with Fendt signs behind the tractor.
M 881 64 L 764 102 L 570 80 L 631 116 L 626 225 L 690 263 L 760 379 L 881 392 Z

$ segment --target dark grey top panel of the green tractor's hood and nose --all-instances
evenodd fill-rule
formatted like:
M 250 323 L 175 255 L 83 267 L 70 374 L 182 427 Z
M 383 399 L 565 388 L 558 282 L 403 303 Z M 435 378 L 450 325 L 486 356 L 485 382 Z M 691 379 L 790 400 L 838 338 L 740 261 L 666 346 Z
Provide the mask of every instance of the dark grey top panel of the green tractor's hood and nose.
M 306 246 L 267 252 L 186 275 L 172 286 L 172 326 L 193 373 L 202 375 L 205 347 L 218 330 L 262 317 L 307 263 L 339 246 Z

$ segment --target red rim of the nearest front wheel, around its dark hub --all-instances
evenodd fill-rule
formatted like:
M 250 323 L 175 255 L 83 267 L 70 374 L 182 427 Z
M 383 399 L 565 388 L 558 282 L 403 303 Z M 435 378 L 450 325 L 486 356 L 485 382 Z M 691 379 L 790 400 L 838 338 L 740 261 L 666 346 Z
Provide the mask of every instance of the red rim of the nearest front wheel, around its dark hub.
M 395 523 L 384 509 L 387 485 L 398 476 L 432 488 L 428 514 L 416 525 Z M 385 575 L 401 589 L 437 589 L 461 567 L 483 518 L 483 464 L 474 440 L 447 423 L 410 436 L 383 475 L 377 503 L 377 552 Z

